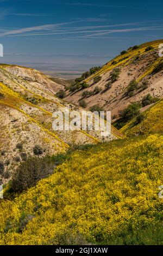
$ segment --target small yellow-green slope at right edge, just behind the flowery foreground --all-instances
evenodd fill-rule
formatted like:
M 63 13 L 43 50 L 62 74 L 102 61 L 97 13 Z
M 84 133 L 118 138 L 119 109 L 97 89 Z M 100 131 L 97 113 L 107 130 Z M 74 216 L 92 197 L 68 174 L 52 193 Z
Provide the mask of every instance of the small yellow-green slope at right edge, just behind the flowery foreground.
M 163 100 L 156 102 L 142 113 L 144 118 L 139 124 L 136 123 L 136 118 L 134 118 L 120 131 L 127 137 L 163 131 Z

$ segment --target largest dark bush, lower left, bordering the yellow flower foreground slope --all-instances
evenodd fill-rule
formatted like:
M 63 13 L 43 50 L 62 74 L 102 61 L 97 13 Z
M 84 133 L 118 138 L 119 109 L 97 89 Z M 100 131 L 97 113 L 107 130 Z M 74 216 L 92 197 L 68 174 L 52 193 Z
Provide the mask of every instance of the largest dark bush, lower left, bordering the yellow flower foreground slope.
M 29 187 L 35 186 L 39 180 L 52 174 L 53 169 L 54 162 L 50 157 L 44 157 L 43 159 L 29 157 L 14 172 L 10 182 L 10 192 L 22 192 Z

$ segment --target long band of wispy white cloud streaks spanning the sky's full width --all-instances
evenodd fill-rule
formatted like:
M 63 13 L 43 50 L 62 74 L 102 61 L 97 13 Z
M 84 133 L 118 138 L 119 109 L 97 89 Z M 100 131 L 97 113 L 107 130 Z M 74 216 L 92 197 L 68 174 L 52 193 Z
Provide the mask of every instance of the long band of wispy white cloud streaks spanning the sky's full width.
M 94 20 L 93 20 L 94 19 Z M 97 18 L 98 19 L 98 18 Z M 69 35 L 67 40 L 71 40 L 75 36 L 76 39 L 83 38 L 105 38 L 106 35 L 112 33 L 132 33 L 140 31 L 159 31 L 163 29 L 160 21 L 146 22 L 130 22 L 109 25 L 84 26 L 84 22 L 96 23 L 96 18 L 79 19 L 70 22 L 46 24 L 40 26 L 18 28 L 18 29 L 3 29 L 0 28 L 0 36 L 55 36 L 55 39 L 61 40 L 62 35 Z M 83 26 L 74 26 L 74 23 L 82 23 Z M 109 21 L 108 21 L 109 22 Z M 153 25 L 151 24 L 153 22 Z M 61 36 L 59 38 L 58 36 Z M 71 36 L 71 38 L 70 38 Z M 51 37 L 52 38 L 52 37 Z M 64 39 L 62 39 L 64 40 Z M 66 40 L 66 39 L 65 39 Z

